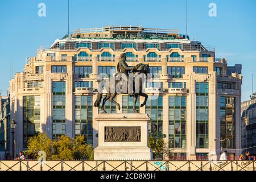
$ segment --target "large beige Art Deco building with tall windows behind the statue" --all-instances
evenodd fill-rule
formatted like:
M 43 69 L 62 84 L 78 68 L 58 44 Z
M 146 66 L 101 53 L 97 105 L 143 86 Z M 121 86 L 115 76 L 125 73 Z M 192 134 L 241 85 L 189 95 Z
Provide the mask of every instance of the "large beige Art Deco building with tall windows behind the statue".
M 144 107 L 138 104 L 138 110 L 151 117 L 150 133 L 166 136 L 170 159 L 219 155 L 219 139 L 225 138 L 222 147 L 236 155 L 232 149 L 241 147 L 241 74 L 227 75 L 226 59 L 216 59 L 214 47 L 177 30 L 143 27 L 75 30 L 39 49 L 10 81 L 16 151 L 26 149 L 38 132 L 51 138 L 85 135 L 96 147 L 97 77 L 113 76 L 123 52 L 130 67 L 150 65 L 150 100 Z M 108 113 L 133 113 L 131 97 L 118 94 L 116 101 L 121 110 L 106 102 Z

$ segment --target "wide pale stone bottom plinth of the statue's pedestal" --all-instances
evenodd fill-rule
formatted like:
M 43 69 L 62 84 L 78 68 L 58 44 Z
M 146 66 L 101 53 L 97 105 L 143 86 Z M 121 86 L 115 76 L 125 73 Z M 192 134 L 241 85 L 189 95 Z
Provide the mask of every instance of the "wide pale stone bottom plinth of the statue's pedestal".
M 152 152 L 148 147 L 97 147 L 94 160 L 151 160 Z

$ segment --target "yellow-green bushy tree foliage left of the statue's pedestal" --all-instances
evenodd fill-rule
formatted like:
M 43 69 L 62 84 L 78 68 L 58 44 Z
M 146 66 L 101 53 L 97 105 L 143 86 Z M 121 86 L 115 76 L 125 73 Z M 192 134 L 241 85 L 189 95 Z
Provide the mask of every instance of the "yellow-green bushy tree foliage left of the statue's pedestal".
M 28 140 L 25 154 L 38 159 L 39 151 L 46 152 L 47 160 L 93 160 L 93 147 L 86 144 L 83 135 L 75 139 L 61 135 L 52 140 L 45 133 L 38 134 Z

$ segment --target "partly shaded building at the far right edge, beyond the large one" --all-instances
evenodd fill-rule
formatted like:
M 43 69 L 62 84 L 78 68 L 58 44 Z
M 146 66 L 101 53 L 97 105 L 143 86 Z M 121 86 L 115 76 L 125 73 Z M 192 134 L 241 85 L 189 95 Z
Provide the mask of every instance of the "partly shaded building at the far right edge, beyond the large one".
M 256 155 L 256 93 L 251 95 L 251 100 L 242 102 L 242 148 L 243 154 L 249 151 Z

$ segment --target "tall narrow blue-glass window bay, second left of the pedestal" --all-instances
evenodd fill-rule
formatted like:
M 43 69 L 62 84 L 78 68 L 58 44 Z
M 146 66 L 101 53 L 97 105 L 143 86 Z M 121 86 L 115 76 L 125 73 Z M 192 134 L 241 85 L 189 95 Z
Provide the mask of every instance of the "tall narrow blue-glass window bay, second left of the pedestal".
M 52 82 L 53 139 L 65 134 L 65 81 Z

